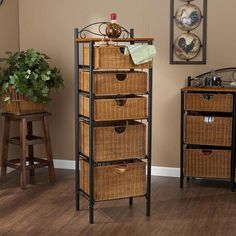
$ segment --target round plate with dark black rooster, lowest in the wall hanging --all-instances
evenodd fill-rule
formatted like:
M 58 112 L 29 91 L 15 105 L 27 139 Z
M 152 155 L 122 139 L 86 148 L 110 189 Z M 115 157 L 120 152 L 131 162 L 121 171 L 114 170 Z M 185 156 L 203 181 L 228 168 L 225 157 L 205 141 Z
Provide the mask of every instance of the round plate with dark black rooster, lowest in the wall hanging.
M 201 48 L 201 41 L 193 33 L 184 33 L 175 40 L 175 54 L 183 60 L 190 60 L 196 57 Z

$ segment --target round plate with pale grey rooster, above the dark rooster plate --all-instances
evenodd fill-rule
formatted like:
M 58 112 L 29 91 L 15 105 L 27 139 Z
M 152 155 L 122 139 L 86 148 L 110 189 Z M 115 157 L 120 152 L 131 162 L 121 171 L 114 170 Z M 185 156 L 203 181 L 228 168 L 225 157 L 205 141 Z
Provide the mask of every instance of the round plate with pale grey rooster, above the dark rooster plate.
M 180 6 L 175 13 L 176 25 L 184 31 L 197 28 L 202 19 L 200 9 L 193 4 L 184 4 Z

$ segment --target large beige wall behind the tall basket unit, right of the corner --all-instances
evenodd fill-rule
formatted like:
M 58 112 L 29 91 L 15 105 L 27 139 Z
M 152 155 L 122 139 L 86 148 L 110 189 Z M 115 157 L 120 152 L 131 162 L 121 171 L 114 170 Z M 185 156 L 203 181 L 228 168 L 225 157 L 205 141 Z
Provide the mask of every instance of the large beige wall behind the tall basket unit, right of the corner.
M 179 166 L 179 90 L 188 75 L 235 66 L 236 1 L 208 1 L 207 65 L 169 65 L 169 0 L 19 0 L 21 49 L 35 48 L 61 67 L 66 88 L 53 94 L 54 157 L 74 159 L 73 28 L 108 20 L 133 27 L 137 37 L 154 37 L 153 165 Z M 1 9 L 0 9 L 1 10 Z

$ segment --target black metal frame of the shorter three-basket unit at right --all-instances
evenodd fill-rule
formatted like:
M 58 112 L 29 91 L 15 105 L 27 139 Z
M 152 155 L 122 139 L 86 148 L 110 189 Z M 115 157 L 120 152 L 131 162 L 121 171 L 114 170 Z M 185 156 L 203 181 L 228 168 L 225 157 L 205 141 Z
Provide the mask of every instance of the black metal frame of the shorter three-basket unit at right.
M 222 71 L 222 69 L 220 69 Z M 207 74 L 207 73 L 206 73 Z M 201 75 L 200 75 L 201 76 Z M 197 76 L 198 77 L 198 76 Z M 190 91 L 189 93 L 194 92 Z M 201 92 L 197 90 L 197 92 Z M 184 122 L 184 116 L 186 111 L 184 110 L 184 94 L 188 93 L 188 91 L 182 91 L 181 90 L 181 119 L 180 119 L 180 188 L 183 188 L 184 186 L 184 177 L 187 177 L 187 180 L 189 180 L 189 177 L 193 176 L 184 176 L 184 146 L 187 145 L 184 143 L 184 129 L 185 129 L 185 122 Z M 216 93 L 214 90 L 212 91 L 204 91 L 204 93 Z M 221 93 L 229 93 L 222 91 Z M 235 189 L 235 149 L 236 149 L 236 93 L 231 92 L 233 95 L 233 112 L 231 113 L 231 116 L 233 118 L 233 124 L 232 124 L 232 146 L 231 146 L 231 173 L 230 173 L 230 188 L 231 191 L 234 192 Z M 189 144 L 191 145 L 191 144 Z M 193 177 L 194 178 L 194 177 Z M 207 178 L 204 178 L 207 179 Z M 226 179 L 225 179 L 226 180 Z

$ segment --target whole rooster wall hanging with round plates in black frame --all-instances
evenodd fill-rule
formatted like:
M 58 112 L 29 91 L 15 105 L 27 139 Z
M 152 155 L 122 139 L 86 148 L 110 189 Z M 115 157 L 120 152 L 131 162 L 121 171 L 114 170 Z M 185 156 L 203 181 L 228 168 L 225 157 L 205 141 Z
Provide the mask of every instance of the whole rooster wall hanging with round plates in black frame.
M 206 64 L 207 0 L 170 0 L 170 64 Z

